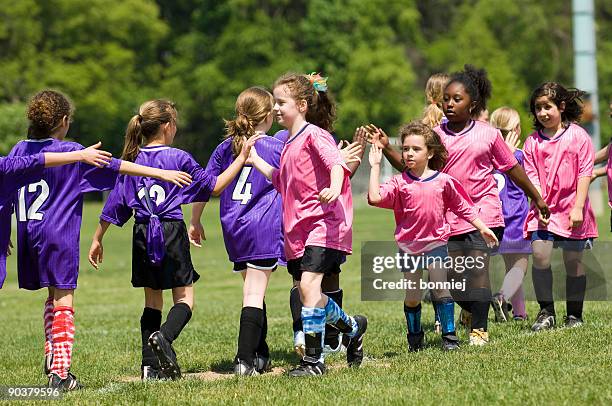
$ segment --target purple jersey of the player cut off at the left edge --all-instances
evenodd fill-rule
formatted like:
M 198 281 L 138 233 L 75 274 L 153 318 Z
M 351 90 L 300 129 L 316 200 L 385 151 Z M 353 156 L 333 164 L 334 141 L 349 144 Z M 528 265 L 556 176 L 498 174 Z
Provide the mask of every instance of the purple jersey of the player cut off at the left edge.
M 6 252 L 11 237 L 11 213 L 17 189 L 34 182 L 43 174 L 43 154 L 0 158 L 0 289 L 6 279 Z

